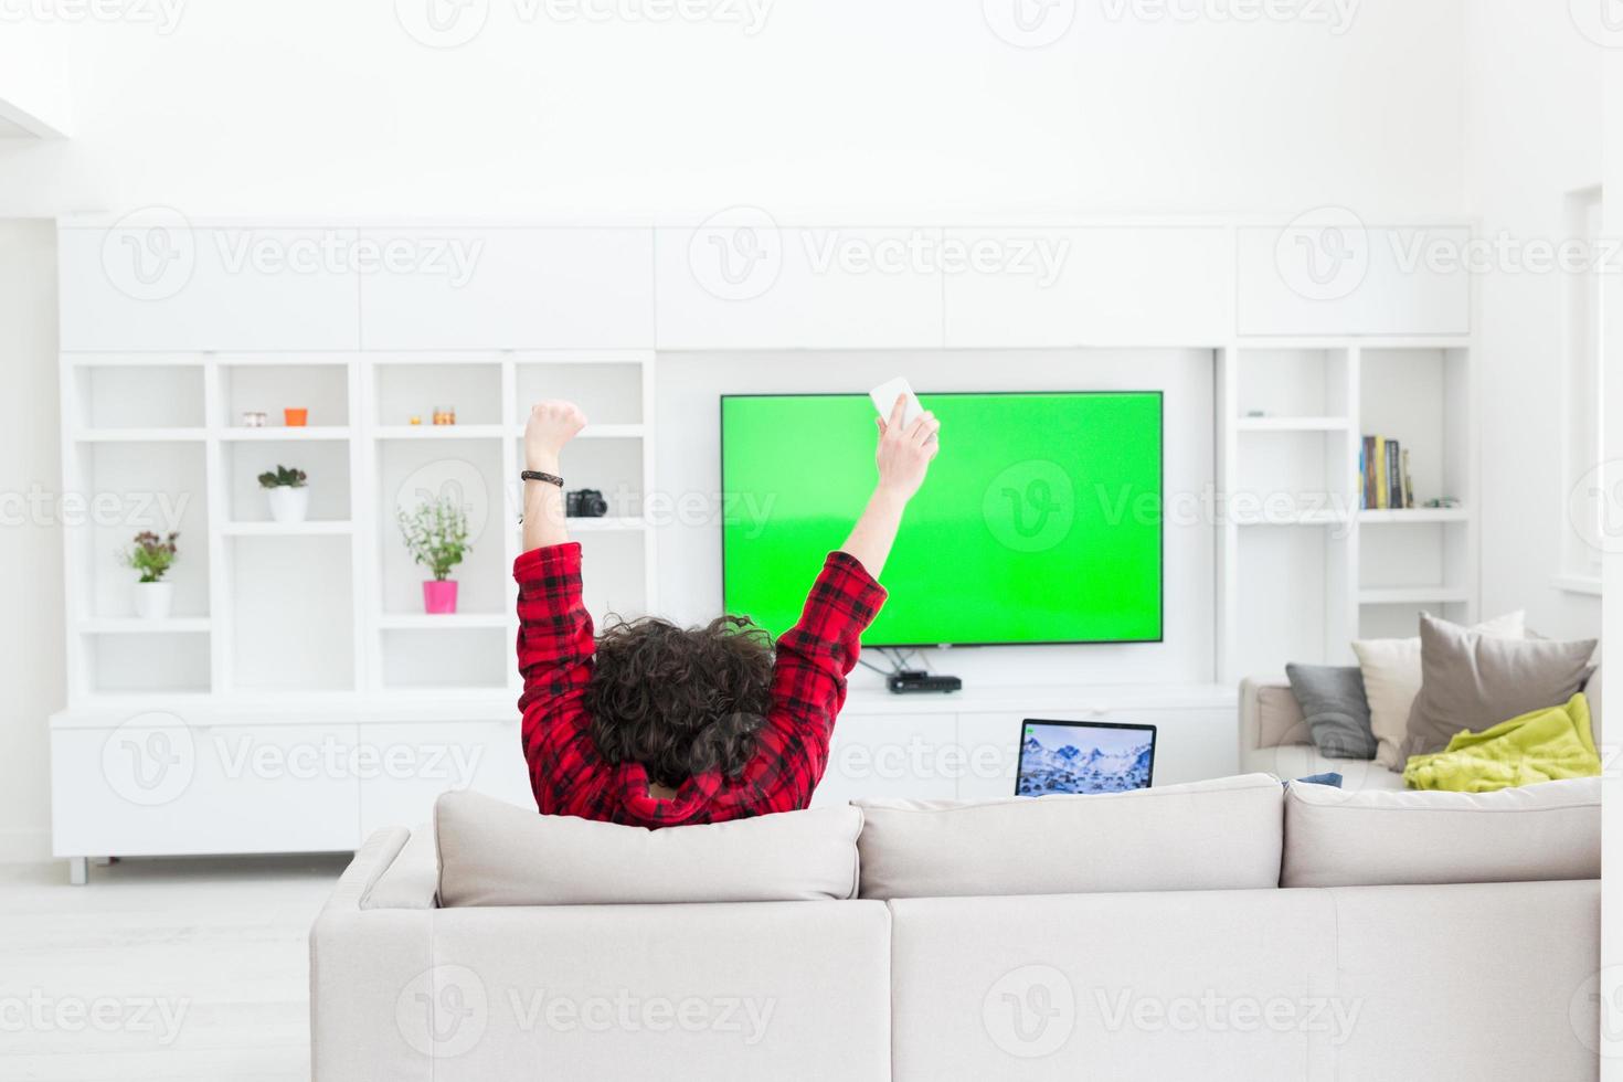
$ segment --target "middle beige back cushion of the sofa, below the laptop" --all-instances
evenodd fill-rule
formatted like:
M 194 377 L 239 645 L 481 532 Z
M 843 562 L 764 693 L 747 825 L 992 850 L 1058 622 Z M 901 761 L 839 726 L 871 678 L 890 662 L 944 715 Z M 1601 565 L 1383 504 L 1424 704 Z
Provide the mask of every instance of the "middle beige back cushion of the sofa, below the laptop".
M 1091 796 L 862 800 L 862 897 L 1279 886 L 1268 774 Z

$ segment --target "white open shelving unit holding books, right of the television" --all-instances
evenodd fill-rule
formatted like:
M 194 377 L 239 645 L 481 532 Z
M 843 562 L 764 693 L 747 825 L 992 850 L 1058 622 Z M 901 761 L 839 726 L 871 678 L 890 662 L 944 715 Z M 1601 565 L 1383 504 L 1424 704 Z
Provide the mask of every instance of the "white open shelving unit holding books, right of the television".
M 1217 673 L 1352 663 L 1420 612 L 1477 616 L 1472 339 L 1237 339 L 1217 352 Z M 1360 508 L 1363 435 L 1410 451 L 1417 503 Z

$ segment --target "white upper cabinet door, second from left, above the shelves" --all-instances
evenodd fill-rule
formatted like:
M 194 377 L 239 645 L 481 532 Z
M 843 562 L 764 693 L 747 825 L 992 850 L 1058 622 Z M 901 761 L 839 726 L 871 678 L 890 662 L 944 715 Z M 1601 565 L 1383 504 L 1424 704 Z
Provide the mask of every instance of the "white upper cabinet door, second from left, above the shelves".
M 360 282 L 365 349 L 615 349 L 654 344 L 648 229 L 364 230 L 385 263 Z

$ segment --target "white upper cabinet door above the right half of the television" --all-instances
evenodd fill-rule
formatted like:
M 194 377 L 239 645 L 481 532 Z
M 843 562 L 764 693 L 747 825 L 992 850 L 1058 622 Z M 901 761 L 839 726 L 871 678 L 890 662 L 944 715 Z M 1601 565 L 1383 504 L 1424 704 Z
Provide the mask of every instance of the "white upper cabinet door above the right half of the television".
M 1217 225 L 949 229 L 948 349 L 1193 346 L 1232 333 Z

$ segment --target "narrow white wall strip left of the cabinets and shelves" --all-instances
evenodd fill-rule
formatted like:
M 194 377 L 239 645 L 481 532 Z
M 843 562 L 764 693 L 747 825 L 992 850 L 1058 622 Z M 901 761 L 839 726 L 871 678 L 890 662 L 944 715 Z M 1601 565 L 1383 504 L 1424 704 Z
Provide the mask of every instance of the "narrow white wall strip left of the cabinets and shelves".
M 67 698 L 57 441 L 57 230 L 0 219 L 0 861 L 50 853 L 45 715 Z

